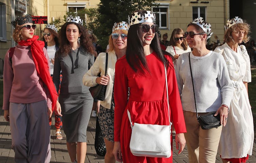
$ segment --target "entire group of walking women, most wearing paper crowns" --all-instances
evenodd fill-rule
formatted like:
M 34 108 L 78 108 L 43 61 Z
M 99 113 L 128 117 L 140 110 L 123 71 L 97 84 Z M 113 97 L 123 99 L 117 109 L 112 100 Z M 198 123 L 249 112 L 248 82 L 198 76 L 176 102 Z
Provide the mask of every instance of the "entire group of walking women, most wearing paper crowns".
M 85 162 L 90 116 L 98 116 L 106 163 L 172 162 L 172 155 L 132 154 L 133 123 L 171 125 L 170 140 L 175 136 L 179 154 L 187 144 L 190 163 L 214 163 L 217 150 L 223 163 L 248 160 L 254 128 L 247 49 L 256 57 L 256 48 L 254 40 L 242 43 L 250 40 L 250 25 L 228 20 L 224 43 L 214 35 L 209 49 L 213 31 L 204 18 L 188 22 L 185 32 L 173 29 L 169 40 L 167 33 L 161 40 L 155 20 L 146 10 L 134 11 L 128 22 L 117 20 L 106 52 L 78 16 L 68 16 L 59 32 L 47 24 L 43 41 L 30 15 L 12 21 L 17 46 L 5 55 L 3 110 L 15 162 L 50 162 L 53 111 L 55 138 L 63 138 L 63 128 L 72 163 Z M 105 100 L 93 99 L 89 88 L 96 85 L 107 86 Z M 202 129 L 198 115 L 213 112 L 221 125 Z

